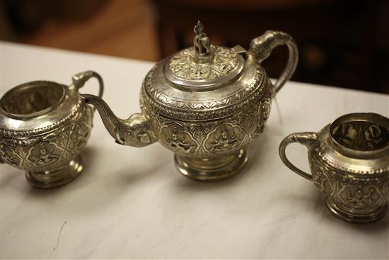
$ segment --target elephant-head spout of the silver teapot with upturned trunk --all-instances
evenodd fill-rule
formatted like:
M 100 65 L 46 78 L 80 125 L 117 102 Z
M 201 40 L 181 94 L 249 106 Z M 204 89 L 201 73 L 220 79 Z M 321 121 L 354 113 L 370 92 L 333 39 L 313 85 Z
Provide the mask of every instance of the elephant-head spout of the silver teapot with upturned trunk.
M 158 140 L 146 115 L 134 113 L 123 120 L 117 118 L 102 98 L 88 94 L 83 94 L 81 97 L 85 103 L 95 106 L 105 128 L 118 144 L 144 147 Z

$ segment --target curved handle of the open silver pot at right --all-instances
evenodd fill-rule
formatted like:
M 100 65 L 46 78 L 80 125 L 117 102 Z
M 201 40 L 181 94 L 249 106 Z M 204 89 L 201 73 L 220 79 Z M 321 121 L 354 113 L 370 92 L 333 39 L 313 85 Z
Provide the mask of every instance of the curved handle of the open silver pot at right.
M 296 174 L 312 181 L 312 175 L 307 174 L 305 171 L 298 169 L 294 164 L 292 164 L 288 158 L 286 158 L 285 149 L 292 142 L 299 142 L 301 145 L 305 145 L 308 149 L 315 145 L 319 144 L 319 137 L 316 132 L 296 132 L 294 134 L 288 135 L 282 140 L 281 144 L 279 144 L 279 157 L 281 157 L 282 162 L 291 169 L 296 172 Z

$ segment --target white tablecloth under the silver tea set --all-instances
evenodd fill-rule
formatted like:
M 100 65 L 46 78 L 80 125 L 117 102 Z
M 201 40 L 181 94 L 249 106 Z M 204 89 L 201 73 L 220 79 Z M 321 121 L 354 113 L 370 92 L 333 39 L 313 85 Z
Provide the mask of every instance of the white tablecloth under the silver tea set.
M 139 89 L 151 62 L 1 43 L 1 95 L 26 81 L 71 83 L 93 69 L 118 116 L 139 111 Z M 83 93 L 97 93 L 96 81 Z M 389 214 L 353 225 L 333 217 L 324 196 L 286 168 L 279 142 L 315 131 L 352 112 L 389 116 L 389 96 L 289 82 L 273 103 L 265 133 L 249 147 L 250 162 L 233 179 L 191 181 L 158 143 L 116 145 L 99 115 L 83 174 L 62 188 L 31 188 L 24 173 L 1 169 L 1 258 L 389 258 Z M 308 171 L 305 147 L 291 161 Z M 61 230 L 62 229 L 62 230 Z M 61 232 L 60 232 L 61 231 Z

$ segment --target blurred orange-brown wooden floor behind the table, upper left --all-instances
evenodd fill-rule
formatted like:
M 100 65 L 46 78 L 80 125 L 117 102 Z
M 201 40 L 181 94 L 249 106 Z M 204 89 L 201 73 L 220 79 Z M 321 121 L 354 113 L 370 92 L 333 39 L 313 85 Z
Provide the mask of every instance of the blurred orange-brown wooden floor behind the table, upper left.
M 23 43 L 158 61 L 153 6 L 149 1 L 111 0 L 86 21 L 47 21 Z

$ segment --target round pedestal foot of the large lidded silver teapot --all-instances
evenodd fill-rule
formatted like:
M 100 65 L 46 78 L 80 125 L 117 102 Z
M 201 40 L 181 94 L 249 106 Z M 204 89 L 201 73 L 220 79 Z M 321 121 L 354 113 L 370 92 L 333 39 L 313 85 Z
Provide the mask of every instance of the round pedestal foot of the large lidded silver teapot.
M 248 162 L 248 152 L 240 149 L 225 157 L 195 159 L 175 154 L 175 166 L 181 174 L 197 181 L 221 181 L 238 174 Z

